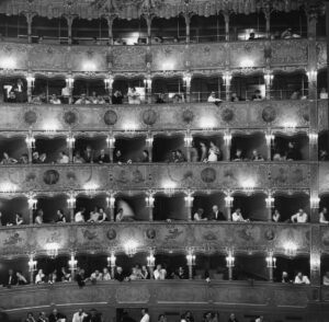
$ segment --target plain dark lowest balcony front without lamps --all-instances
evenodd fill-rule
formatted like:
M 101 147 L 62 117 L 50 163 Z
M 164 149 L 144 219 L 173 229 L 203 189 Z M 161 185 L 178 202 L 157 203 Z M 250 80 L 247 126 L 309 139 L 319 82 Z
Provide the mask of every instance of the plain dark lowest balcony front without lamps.
M 174 288 L 174 297 L 172 296 Z M 152 304 L 177 306 L 227 306 L 248 304 L 265 309 L 306 308 L 311 301 L 311 291 L 318 288 L 308 286 L 286 286 L 256 284 L 253 287 L 246 283 L 214 283 L 204 281 L 132 281 L 125 283 L 100 283 L 79 289 L 73 284 L 57 284 L 44 286 L 25 286 L 14 290 L 2 290 L 0 299 L 2 308 L 23 309 L 61 304 L 106 304 L 115 307 L 118 304 Z

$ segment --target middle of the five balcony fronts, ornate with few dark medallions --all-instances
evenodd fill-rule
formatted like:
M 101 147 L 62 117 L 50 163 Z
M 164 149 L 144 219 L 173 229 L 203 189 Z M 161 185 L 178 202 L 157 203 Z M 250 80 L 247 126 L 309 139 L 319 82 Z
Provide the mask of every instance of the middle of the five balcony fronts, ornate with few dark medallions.
M 321 168 L 324 171 L 327 171 L 326 165 Z M 219 162 L 216 164 L 12 165 L 0 168 L 0 184 L 15 186 L 16 193 L 35 191 L 45 195 L 70 189 L 86 192 L 86 186 L 91 184 L 97 186 L 95 191 L 150 188 L 162 191 L 168 183 L 174 185 L 177 189 L 242 189 L 246 181 L 252 181 L 254 189 L 302 191 L 309 188 L 311 170 L 316 171 L 317 164 Z M 328 183 L 324 181 L 320 191 L 328 191 Z

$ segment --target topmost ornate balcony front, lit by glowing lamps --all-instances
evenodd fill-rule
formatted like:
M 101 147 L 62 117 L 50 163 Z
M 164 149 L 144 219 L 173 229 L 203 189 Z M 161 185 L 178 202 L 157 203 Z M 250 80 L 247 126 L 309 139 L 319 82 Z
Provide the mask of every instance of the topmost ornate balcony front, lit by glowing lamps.
M 69 71 L 84 73 L 86 62 L 89 66 L 93 64 L 91 73 L 101 76 L 110 70 L 113 76 L 123 73 L 129 77 L 136 72 L 166 74 L 163 71 L 170 76 L 181 74 L 186 69 L 216 74 L 227 69 L 262 69 L 268 64 L 274 70 L 306 68 L 308 44 L 307 39 L 110 47 L 2 43 L 0 60 L 11 59 L 9 69 L 39 71 L 48 77 Z M 318 68 L 325 68 L 326 43 L 318 42 L 317 48 Z

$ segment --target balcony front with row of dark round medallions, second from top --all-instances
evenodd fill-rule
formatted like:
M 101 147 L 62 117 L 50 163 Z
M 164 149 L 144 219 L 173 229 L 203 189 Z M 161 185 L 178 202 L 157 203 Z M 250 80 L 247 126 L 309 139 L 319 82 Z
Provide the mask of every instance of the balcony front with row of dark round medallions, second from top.
M 327 101 L 326 101 L 327 103 Z M 325 102 L 320 115 L 326 114 Z M 297 128 L 309 126 L 308 101 L 263 101 L 223 103 L 149 104 L 149 105 L 19 105 L 3 104 L 0 108 L 0 128 L 5 130 L 173 130 L 212 128 Z M 326 119 L 319 117 L 322 127 Z

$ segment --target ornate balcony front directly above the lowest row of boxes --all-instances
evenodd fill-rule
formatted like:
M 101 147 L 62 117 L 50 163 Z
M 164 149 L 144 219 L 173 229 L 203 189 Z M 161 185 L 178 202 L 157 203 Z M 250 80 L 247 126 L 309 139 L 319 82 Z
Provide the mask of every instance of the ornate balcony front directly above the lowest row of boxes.
M 184 253 L 194 246 L 197 253 L 225 253 L 230 246 L 235 252 L 266 252 L 285 254 L 286 242 L 294 242 L 298 254 L 310 252 L 308 225 L 280 223 L 179 223 L 173 222 L 103 222 L 3 227 L 0 229 L 0 254 L 3 257 L 26 256 L 35 252 L 46 255 L 49 243 L 58 244 L 58 252 L 69 254 L 107 254 L 110 249 L 124 253 L 127 240 L 137 242 L 137 252 L 156 248 L 161 252 Z

